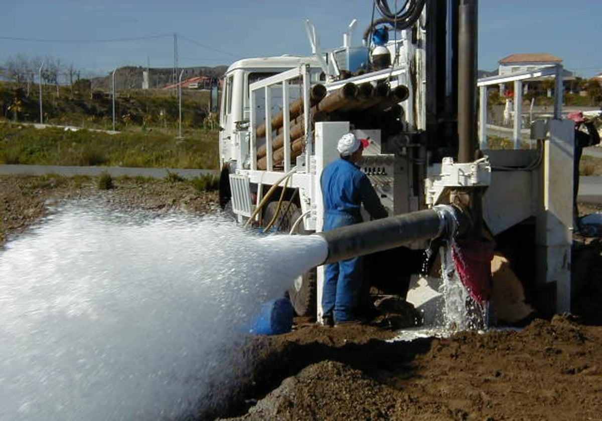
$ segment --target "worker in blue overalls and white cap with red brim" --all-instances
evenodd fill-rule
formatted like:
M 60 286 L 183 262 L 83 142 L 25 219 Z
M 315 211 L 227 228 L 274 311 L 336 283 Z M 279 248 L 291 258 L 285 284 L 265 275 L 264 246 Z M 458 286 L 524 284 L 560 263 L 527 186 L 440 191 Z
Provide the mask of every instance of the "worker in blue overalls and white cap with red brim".
M 387 216 L 370 180 L 356 165 L 369 143 L 369 140 L 358 139 L 352 133 L 343 135 L 337 144 L 341 158 L 324 168 L 320 179 L 324 198 L 324 231 L 362 222 L 361 204 L 373 219 Z M 322 290 L 324 325 L 360 322 L 355 310 L 361 289 L 359 257 L 327 264 Z

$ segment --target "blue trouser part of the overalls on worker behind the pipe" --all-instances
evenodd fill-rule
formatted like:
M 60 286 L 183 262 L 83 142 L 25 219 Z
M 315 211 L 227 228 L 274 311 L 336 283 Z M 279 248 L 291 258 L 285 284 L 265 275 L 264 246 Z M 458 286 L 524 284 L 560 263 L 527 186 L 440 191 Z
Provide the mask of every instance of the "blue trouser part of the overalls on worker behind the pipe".
M 327 211 L 324 216 L 324 231 L 346 227 L 361 222 L 345 212 Z M 324 274 L 322 290 L 322 311 L 324 316 L 332 316 L 335 323 L 355 318 L 353 310 L 358 306 L 362 287 L 361 259 L 328 263 Z

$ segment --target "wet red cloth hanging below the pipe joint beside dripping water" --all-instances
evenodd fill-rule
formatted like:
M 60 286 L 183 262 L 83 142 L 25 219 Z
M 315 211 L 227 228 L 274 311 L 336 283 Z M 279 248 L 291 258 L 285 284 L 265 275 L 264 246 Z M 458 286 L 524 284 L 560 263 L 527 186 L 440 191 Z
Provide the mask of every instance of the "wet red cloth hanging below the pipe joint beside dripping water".
M 463 241 L 452 245 L 452 258 L 456 272 L 471 297 L 482 304 L 491 297 L 493 277 L 491 260 L 494 243 L 489 241 Z

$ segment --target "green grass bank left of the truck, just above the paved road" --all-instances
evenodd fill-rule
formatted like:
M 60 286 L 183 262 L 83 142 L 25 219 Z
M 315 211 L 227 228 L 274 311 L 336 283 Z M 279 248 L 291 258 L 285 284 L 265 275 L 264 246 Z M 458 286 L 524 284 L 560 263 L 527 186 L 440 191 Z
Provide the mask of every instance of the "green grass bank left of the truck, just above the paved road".
M 217 131 L 187 129 L 182 137 L 173 131 L 111 135 L 0 121 L 0 163 L 217 169 Z

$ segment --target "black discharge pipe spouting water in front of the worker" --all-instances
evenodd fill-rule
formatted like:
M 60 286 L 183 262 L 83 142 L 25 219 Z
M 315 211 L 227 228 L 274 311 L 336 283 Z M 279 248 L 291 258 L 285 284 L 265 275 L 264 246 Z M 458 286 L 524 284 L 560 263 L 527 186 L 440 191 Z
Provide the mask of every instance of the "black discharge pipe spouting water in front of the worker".
M 456 236 L 464 232 L 467 218 L 458 207 L 444 204 L 316 233 L 328 245 L 328 256 L 320 264 L 364 256 L 423 239 Z

